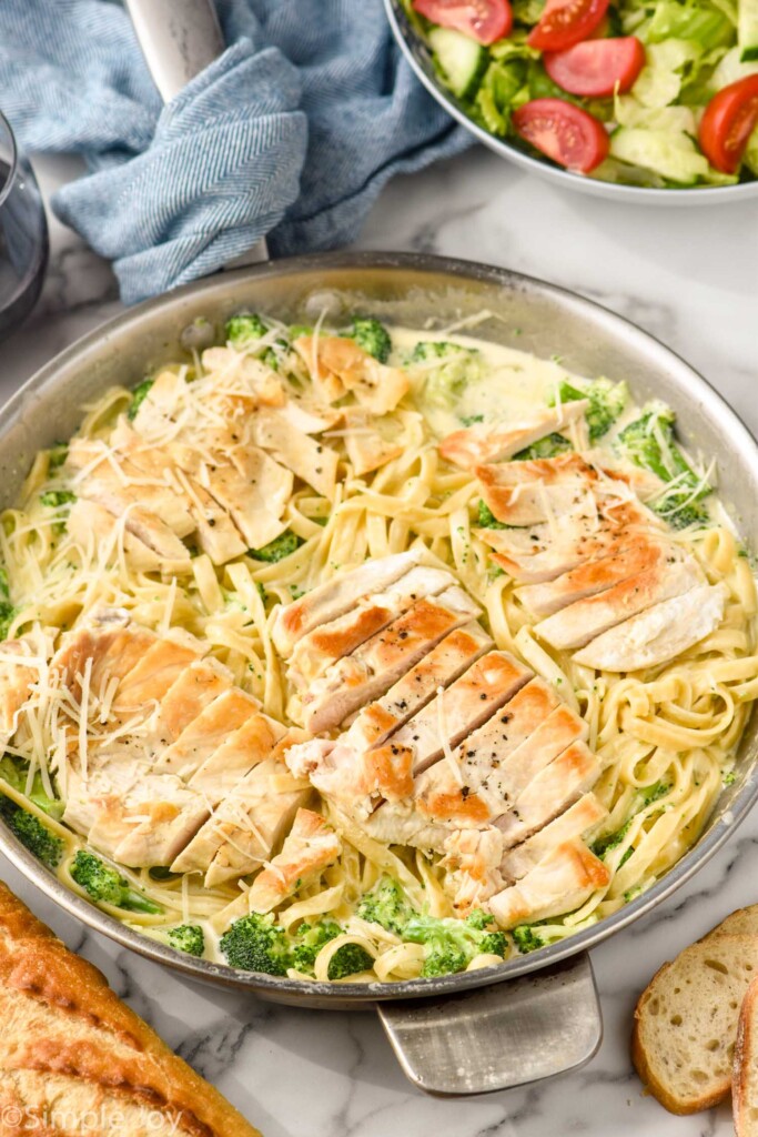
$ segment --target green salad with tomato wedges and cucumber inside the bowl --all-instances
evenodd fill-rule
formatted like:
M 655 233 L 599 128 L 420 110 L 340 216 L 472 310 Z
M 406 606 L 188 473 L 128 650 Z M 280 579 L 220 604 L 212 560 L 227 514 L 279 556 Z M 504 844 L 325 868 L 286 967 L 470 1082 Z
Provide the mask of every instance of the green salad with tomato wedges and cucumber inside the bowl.
M 466 115 L 606 182 L 758 177 L 758 0 L 403 0 Z

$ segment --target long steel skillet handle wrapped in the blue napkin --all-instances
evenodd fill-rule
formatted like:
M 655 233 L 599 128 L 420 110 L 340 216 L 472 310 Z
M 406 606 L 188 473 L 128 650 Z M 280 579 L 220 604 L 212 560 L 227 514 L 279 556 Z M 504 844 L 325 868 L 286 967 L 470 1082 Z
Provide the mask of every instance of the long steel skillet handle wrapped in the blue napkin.
M 213 0 L 126 0 L 142 55 L 164 102 L 224 51 Z M 226 268 L 268 260 L 261 238 Z

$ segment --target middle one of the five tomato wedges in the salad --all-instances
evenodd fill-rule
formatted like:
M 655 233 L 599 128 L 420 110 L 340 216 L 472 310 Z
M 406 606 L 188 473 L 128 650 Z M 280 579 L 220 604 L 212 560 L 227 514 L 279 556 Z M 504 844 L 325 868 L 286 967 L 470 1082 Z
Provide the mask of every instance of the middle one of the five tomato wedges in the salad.
M 644 67 L 644 48 L 635 35 L 617 40 L 584 40 L 566 51 L 545 51 L 544 69 L 569 94 L 601 99 L 628 91 Z

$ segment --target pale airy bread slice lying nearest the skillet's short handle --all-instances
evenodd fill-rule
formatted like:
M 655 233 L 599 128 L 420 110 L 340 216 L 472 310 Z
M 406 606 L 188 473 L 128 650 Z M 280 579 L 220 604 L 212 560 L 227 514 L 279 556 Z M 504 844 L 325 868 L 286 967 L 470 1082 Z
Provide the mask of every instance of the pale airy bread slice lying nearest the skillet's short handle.
M 672 1113 L 728 1095 L 740 1006 L 756 976 L 757 936 L 708 936 L 665 963 L 640 996 L 632 1061 Z

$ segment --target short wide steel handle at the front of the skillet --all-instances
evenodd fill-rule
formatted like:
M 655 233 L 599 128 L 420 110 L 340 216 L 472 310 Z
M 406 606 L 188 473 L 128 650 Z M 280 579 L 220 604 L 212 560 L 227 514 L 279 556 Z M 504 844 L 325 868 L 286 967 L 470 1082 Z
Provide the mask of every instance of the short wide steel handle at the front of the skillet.
M 575 1070 L 602 1039 L 586 953 L 445 998 L 380 1003 L 403 1073 L 426 1094 L 488 1094 Z

